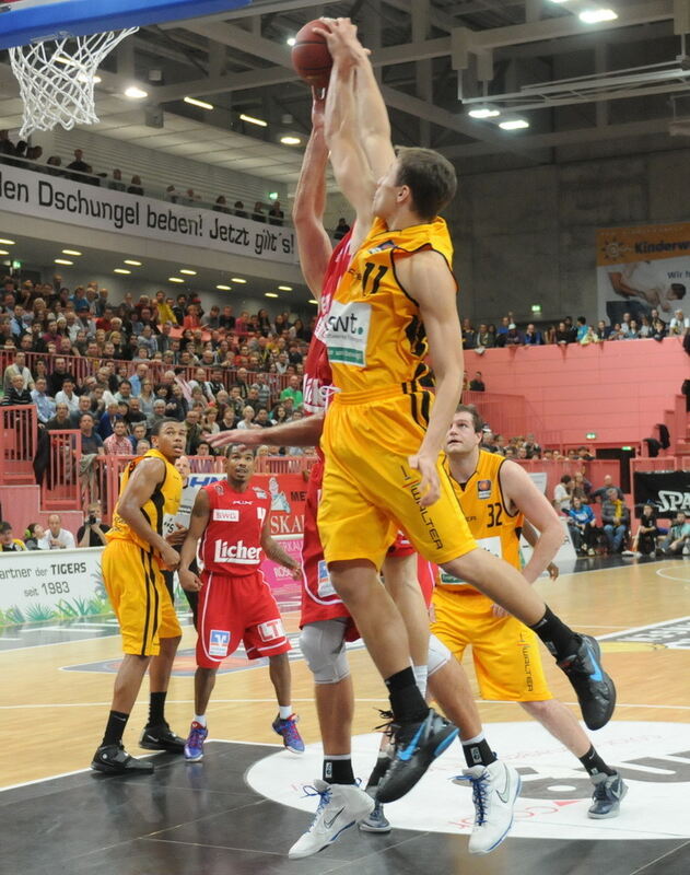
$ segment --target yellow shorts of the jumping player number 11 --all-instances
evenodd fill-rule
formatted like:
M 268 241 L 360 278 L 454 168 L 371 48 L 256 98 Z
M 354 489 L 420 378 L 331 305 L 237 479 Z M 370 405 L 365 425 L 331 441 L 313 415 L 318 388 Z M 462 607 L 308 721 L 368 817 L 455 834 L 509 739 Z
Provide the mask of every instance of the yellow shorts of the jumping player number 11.
M 420 475 L 408 456 L 424 438 L 428 396 L 397 388 L 394 396 L 362 402 L 336 395 L 321 436 L 318 532 L 327 562 L 370 559 L 378 569 L 399 529 L 436 564 L 477 547 L 441 464 L 441 498 L 430 508 L 419 504 Z

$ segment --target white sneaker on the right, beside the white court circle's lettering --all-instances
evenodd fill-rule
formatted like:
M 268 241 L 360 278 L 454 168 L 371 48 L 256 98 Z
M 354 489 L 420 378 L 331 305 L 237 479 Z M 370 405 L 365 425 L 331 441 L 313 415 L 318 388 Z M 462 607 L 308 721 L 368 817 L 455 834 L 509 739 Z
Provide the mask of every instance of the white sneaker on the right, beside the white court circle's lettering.
M 472 766 L 455 779 L 469 781 L 475 803 L 475 827 L 469 837 L 470 854 L 488 854 L 498 848 L 513 825 L 513 808 L 519 795 L 521 777 L 500 760 L 490 766 Z

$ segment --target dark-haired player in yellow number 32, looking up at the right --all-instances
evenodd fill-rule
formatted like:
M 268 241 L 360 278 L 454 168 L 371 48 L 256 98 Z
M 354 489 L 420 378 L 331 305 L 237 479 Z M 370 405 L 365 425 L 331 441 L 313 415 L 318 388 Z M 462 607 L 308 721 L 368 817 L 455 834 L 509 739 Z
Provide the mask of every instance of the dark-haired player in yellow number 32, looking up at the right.
M 519 569 L 521 529 L 531 529 L 534 553 L 523 574 L 534 583 L 561 545 L 561 524 L 519 465 L 480 450 L 483 424 L 475 407 L 458 407 L 446 440 L 444 467 L 470 532 L 484 550 Z M 555 567 L 549 570 L 558 574 Z M 445 573 L 433 595 L 433 633 L 458 661 L 471 645 L 482 699 L 518 702 L 587 770 L 594 783 L 589 817 L 616 817 L 625 784 L 597 754 L 574 714 L 552 697 L 537 635 L 473 586 Z

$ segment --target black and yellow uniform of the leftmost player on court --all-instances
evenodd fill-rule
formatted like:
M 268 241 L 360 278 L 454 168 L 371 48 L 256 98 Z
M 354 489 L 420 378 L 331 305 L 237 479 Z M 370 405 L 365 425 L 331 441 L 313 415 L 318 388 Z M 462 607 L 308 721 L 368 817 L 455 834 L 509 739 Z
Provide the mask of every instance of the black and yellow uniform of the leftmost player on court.
M 145 458 L 160 458 L 165 475 L 141 511 L 151 528 L 163 533 L 164 514 L 177 513 L 183 480 L 179 471 L 157 450 L 133 459 L 122 472 L 120 494 L 137 466 Z M 173 604 L 165 588 L 160 557 L 150 544 L 132 532 L 118 513 L 106 534 L 103 580 L 120 625 L 122 650 L 139 656 L 155 656 L 161 638 L 182 634 Z

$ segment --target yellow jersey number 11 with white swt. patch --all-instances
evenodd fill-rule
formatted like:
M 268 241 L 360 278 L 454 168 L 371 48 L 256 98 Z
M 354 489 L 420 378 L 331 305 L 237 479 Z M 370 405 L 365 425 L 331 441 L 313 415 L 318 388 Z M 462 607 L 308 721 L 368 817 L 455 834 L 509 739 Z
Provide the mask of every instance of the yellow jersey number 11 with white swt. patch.
M 340 280 L 321 340 L 328 347 L 334 384 L 342 393 L 407 385 L 429 373 L 429 346 L 417 302 L 400 285 L 396 260 L 433 249 L 453 265 L 453 244 L 445 221 L 389 231 L 376 219 Z

